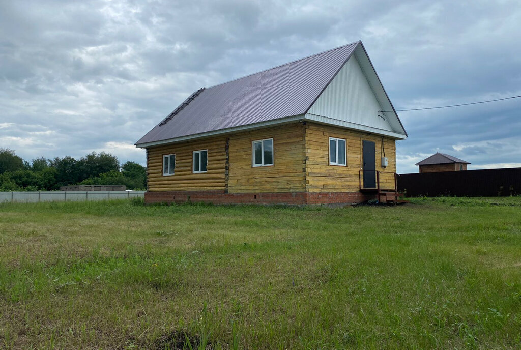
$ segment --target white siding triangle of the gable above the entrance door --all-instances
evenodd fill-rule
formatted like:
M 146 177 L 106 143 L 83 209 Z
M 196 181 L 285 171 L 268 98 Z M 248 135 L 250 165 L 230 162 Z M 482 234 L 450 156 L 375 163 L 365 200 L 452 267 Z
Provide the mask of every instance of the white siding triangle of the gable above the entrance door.
M 387 116 L 381 113 L 380 116 L 386 119 L 378 116 L 381 110 L 384 108 L 378 102 L 356 56 L 353 55 L 307 113 L 310 119 L 331 118 L 343 121 L 339 124 L 353 129 L 378 129 L 384 134 L 396 132 L 386 120 Z

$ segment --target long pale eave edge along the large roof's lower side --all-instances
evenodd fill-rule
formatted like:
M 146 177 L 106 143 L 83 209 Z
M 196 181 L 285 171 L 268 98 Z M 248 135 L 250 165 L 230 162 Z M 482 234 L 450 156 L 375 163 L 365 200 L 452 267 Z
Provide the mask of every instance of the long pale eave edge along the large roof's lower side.
M 153 141 L 153 142 L 145 142 L 145 143 L 136 143 L 135 146 L 136 146 L 136 148 L 147 148 L 147 147 L 152 147 L 152 146 L 166 145 L 166 144 L 170 144 L 170 143 L 207 138 L 210 136 L 224 135 L 224 134 L 229 134 L 232 132 L 249 131 L 249 130 L 260 129 L 260 128 L 265 128 L 265 127 L 272 127 L 272 126 L 276 126 L 279 124 L 286 124 L 286 123 L 290 123 L 293 121 L 299 121 L 299 120 L 304 121 L 304 115 L 278 118 L 278 119 L 274 119 L 274 120 L 262 121 L 262 122 L 253 123 L 253 124 L 241 125 L 238 127 L 203 132 L 200 134 L 179 136 L 178 138 L 159 140 L 159 141 Z

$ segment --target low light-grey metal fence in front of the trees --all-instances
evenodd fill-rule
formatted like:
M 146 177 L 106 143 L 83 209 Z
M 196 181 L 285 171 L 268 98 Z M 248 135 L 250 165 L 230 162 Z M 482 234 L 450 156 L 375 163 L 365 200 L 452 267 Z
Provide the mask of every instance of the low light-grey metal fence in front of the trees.
M 51 192 L 0 192 L 0 203 L 38 203 L 72 201 L 107 201 L 144 197 L 146 191 L 51 191 Z

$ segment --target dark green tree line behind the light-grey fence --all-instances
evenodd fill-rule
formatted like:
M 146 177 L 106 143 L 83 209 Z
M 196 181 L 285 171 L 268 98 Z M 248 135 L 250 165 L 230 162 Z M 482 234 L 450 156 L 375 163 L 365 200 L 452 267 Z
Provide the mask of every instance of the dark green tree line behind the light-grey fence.
M 145 167 L 105 152 L 92 152 L 75 159 L 70 156 L 46 159 L 39 157 L 29 163 L 15 151 L 0 148 L 1 191 L 54 191 L 67 185 L 126 185 L 130 190 L 146 188 Z

